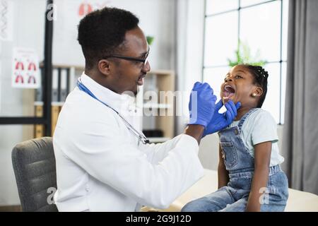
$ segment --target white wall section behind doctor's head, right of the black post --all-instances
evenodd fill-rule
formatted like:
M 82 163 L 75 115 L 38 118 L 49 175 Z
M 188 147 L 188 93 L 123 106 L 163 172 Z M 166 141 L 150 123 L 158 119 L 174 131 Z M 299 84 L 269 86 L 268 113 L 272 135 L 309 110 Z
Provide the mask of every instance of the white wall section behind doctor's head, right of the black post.
M 56 0 L 57 21 L 54 24 L 54 64 L 85 64 L 77 39 L 78 5 L 83 1 Z M 151 45 L 152 69 L 174 69 L 175 1 L 171 0 L 90 0 L 93 7 L 114 6 L 134 13 L 145 35 L 154 36 Z M 66 35 L 67 34 L 67 35 Z M 72 54 L 67 54 L 71 52 Z

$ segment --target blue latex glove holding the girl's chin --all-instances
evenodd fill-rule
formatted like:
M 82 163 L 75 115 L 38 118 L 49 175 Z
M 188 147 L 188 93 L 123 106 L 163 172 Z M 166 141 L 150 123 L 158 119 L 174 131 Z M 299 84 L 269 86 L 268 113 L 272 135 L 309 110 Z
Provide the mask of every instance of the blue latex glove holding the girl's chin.
M 216 104 L 213 117 L 206 129 L 204 130 L 204 134 L 202 137 L 211 133 L 215 133 L 216 131 L 220 131 L 221 129 L 224 129 L 226 126 L 230 125 L 237 116 L 237 109 L 241 107 L 241 103 L 237 102 L 237 104 L 235 105 L 234 102 L 232 102 L 232 100 L 229 100 L 225 103 L 226 112 L 223 114 L 218 113 L 218 110 L 221 107 L 223 107 L 222 100 L 220 100 Z

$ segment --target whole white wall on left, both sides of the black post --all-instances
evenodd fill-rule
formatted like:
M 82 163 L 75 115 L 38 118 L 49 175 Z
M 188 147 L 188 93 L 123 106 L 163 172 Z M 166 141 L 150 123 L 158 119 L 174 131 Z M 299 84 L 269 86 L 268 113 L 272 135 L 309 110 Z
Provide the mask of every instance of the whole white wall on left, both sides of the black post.
M 31 47 L 37 51 L 40 60 L 44 55 L 45 4 L 44 0 L 12 0 L 14 7 L 14 38 L 10 42 L 0 42 L 1 95 L 0 115 L 31 116 L 33 114 L 34 90 L 18 90 L 11 88 L 11 57 L 13 47 Z M 56 0 L 57 12 L 66 10 L 63 3 L 82 2 L 80 0 Z M 95 1 L 95 0 L 91 0 Z M 106 2 L 119 8 L 132 11 L 140 19 L 140 27 L 146 35 L 153 35 L 155 40 L 151 46 L 151 67 L 153 69 L 174 69 L 175 54 L 175 1 L 170 0 L 113 0 Z M 30 10 L 28 10 L 30 9 Z M 31 10 L 32 9 L 32 10 Z M 76 25 L 71 28 L 73 36 L 59 33 L 61 25 L 67 25 L 67 16 L 57 14 L 54 21 L 54 64 L 72 64 L 83 66 L 84 59 L 76 40 Z M 59 36 L 56 33 L 59 33 Z M 75 35 L 74 35 L 75 34 Z M 69 44 L 71 42 L 71 44 Z M 19 203 L 16 181 L 11 163 L 11 150 L 16 143 L 28 140 L 33 136 L 32 126 L 0 125 L 0 206 Z

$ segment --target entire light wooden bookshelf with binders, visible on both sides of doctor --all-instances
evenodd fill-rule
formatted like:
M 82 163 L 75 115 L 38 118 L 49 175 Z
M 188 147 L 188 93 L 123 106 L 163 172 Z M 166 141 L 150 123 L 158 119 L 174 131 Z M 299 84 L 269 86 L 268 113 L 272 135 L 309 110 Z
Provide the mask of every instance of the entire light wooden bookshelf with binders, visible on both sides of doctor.
M 52 78 L 52 136 L 61 107 L 67 94 L 75 88 L 76 81 L 83 73 L 78 66 L 53 66 Z M 43 114 L 43 102 L 40 89 L 35 95 L 35 115 Z M 143 109 L 141 128 L 151 143 L 162 143 L 174 137 L 175 133 L 175 103 L 173 96 L 167 93 L 175 92 L 175 73 L 169 70 L 150 71 L 144 78 L 144 85 L 139 87 L 136 96 L 136 107 Z M 44 136 L 44 126 L 35 125 L 35 138 Z

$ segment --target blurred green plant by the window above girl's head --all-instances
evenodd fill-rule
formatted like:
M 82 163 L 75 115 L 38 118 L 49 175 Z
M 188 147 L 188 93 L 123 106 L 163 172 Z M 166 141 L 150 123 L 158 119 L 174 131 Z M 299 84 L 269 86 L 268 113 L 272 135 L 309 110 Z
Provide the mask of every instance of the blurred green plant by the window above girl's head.
M 254 56 L 251 54 L 251 48 L 247 43 L 243 43 L 239 40 L 237 50 L 235 51 L 235 59 L 228 59 L 228 65 L 230 67 L 237 64 L 251 64 L 254 66 L 264 66 L 267 64 L 267 61 L 260 59 L 260 51 L 257 49 L 257 52 Z

